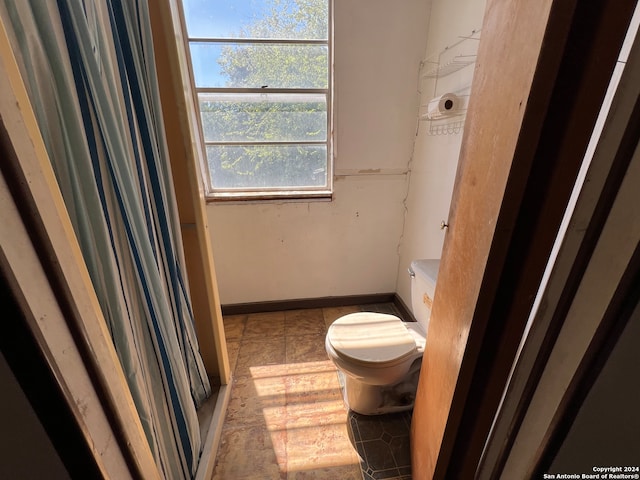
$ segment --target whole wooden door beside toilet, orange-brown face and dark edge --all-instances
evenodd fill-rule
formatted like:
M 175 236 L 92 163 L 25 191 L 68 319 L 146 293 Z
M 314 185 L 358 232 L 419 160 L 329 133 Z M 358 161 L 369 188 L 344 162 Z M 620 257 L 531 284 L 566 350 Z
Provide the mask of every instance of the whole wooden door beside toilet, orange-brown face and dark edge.
M 635 0 L 489 0 L 412 423 L 473 478 Z

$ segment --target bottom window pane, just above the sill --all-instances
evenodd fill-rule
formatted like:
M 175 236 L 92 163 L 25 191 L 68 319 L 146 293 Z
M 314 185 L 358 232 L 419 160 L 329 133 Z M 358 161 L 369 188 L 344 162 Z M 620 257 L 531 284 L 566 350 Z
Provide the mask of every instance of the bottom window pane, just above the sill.
M 213 188 L 323 187 L 324 145 L 207 146 Z

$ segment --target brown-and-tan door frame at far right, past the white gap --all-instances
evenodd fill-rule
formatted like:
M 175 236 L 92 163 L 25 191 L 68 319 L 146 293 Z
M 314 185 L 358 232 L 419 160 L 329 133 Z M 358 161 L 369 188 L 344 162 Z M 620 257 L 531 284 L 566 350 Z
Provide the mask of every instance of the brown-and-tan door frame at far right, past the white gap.
M 530 317 L 478 479 L 499 478 L 505 465 L 507 478 L 527 469 L 538 469 L 533 475 L 542 477 L 635 307 L 640 38 L 633 45 L 631 40 L 636 30 L 637 20 L 627 39 L 628 58 L 619 62 L 609 86 L 611 101 L 598 121 L 602 129 L 594 131 L 592 156 L 585 159 L 575 207 L 545 275 L 540 308 Z

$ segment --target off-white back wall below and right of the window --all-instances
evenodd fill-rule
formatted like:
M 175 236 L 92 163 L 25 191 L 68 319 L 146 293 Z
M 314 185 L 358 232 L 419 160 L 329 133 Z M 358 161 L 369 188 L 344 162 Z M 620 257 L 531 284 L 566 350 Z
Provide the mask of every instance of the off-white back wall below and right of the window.
M 396 290 L 430 3 L 335 2 L 334 198 L 210 204 L 223 304 Z

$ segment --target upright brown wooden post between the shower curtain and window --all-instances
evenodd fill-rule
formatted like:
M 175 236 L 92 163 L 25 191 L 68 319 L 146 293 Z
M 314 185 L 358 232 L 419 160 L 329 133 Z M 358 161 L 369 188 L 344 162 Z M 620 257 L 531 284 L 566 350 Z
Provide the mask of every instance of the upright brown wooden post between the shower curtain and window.
M 222 311 L 198 155 L 198 123 L 189 104 L 188 77 L 181 18 L 175 0 L 150 2 L 151 24 L 162 110 L 167 132 L 178 210 L 182 223 L 185 260 L 191 288 L 196 331 L 203 361 L 211 377 L 222 385 L 230 381 Z

